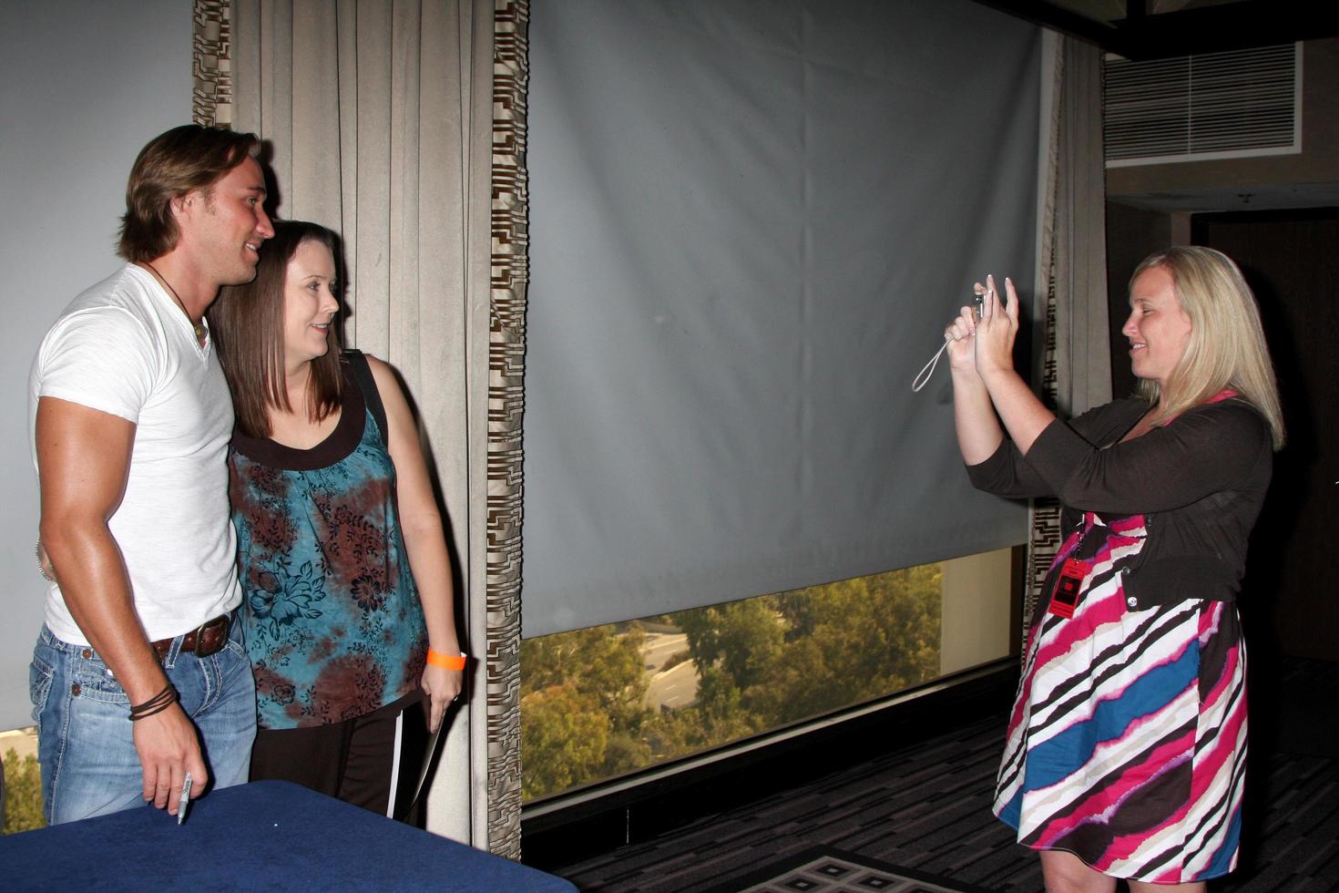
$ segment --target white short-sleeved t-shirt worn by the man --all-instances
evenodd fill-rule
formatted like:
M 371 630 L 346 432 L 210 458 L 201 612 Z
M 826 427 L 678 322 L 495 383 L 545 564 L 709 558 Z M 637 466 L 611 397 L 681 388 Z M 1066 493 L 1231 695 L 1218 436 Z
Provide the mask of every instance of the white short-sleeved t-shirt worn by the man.
M 241 604 L 228 506 L 228 383 L 213 340 L 200 347 L 190 320 L 149 272 L 126 264 L 64 309 L 28 375 L 29 432 L 43 396 L 135 423 L 126 494 L 108 526 L 149 639 L 189 632 Z M 46 619 L 59 639 L 88 644 L 55 584 Z

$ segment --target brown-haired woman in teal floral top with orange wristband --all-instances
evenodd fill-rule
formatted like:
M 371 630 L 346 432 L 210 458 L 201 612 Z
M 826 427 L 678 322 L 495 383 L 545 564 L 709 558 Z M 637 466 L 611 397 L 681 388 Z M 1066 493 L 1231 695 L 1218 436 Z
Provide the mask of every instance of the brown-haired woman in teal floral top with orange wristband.
M 237 414 L 252 781 L 402 818 L 465 656 L 418 428 L 391 368 L 339 349 L 335 256 L 329 230 L 279 221 L 254 281 L 209 313 Z

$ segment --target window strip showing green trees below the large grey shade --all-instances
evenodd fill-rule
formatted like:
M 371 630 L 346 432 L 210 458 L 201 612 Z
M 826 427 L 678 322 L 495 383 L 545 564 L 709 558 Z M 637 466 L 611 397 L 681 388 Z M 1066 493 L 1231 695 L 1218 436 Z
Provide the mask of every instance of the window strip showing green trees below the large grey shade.
M 1011 549 L 521 644 L 522 797 L 794 726 L 1010 653 Z

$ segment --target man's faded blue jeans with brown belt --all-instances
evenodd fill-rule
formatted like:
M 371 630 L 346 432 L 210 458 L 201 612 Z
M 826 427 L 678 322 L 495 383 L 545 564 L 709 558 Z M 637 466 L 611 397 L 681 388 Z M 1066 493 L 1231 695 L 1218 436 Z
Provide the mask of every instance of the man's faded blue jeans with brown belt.
M 256 738 L 256 681 L 233 620 L 228 644 L 208 657 L 181 653 L 163 669 L 200 730 L 212 787 L 246 781 Z M 42 806 L 50 825 L 143 806 L 143 768 L 131 738 L 130 699 L 98 653 L 42 628 L 28 671 L 37 722 Z

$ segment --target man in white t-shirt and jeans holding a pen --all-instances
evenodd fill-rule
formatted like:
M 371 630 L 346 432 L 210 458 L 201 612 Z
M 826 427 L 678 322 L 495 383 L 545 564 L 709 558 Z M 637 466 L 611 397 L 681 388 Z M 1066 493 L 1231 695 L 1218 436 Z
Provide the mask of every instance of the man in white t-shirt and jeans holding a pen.
M 50 573 L 33 649 L 51 823 L 246 781 L 254 683 L 229 519 L 233 408 L 204 320 L 273 234 L 254 134 L 187 125 L 139 153 L 129 261 L 76 297 L 29 375 Z M 186 778 L 190 778 L 190 785 Z

